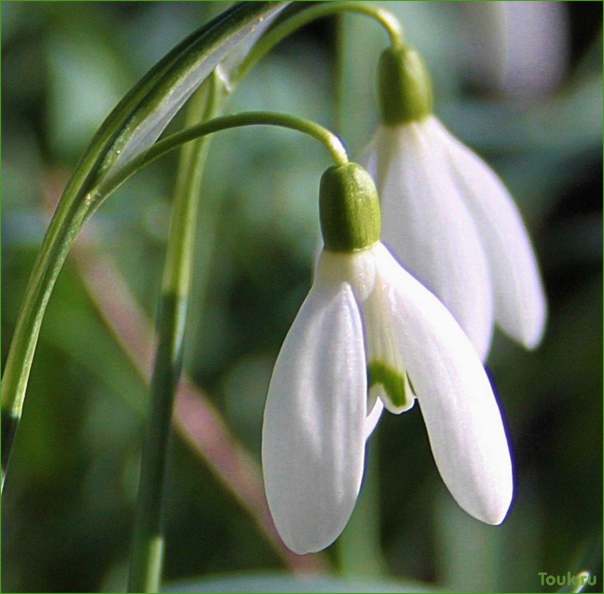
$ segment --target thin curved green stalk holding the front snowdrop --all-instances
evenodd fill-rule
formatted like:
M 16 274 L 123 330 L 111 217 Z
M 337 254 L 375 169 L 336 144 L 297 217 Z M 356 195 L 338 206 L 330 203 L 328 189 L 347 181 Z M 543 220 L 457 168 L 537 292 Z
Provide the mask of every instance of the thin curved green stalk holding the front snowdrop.
M 181 144 L 190 142 L 201 136 L 243 126 L 279 126 L 291 130 L 298 130 L 298 132 L 303 132 L 316 138 L 318 141 L 323 142 L 336 165 L 345 165 L 348 162 L 348 155 L 338 136 L 327 130 L 327 128 L 310 120 L 304 120 L 303 118 L 298 118 L 289 115 L 288 113 L 277 112 L 244 112 L 236 113 L 234 115 L 225 115 L 198 124 L 197 126 L 191 126 L 190 128 L 182 130 L 182 132 L 176 132 L 171 136 L 167 136 L 163 140 L 156 142 L 156 144 L 141 153 L 137 158 L 132 159 L 132 161 L 130 161 L 122 170 L 118 171 L 115 176 L 110 177 L 108 180 L 91 190 L 91 208 L 88 216 L 91 216 L 100 203 L 109 196 L 109 194 L 117 190 L 117 188 L 132 176 L 133 173 L 150 162 L 155 161 L 155 159 L 158 159 L 162 155 L 165 155 L 165 153 L 169 153 Z

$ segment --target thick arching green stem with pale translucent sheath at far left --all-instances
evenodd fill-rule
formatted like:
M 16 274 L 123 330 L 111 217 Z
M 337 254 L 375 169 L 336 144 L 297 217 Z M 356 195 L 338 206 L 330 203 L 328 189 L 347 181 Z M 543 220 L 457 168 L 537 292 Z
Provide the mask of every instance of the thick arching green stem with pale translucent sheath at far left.
M 2 488 L 48 299 L 87 218 L 88 191 L 147 149 L 214 67 L 288 2 L 241 2 L 179 43 L 109 114 L 69 180 L 30 276 L 2 377 Z

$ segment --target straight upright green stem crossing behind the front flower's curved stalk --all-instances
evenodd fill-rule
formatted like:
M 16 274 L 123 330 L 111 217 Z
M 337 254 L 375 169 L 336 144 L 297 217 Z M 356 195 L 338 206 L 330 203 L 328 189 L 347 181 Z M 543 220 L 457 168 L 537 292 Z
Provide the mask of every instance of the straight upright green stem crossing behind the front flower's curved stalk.
M 223 97 L 212 75 L 188 107 L 187 124 L 216 115 Z M 201 117 L 199 116 L 201 114 Z M 201 182 L 210 138 L 184 145 L 162 279 L 158 347 L 151 381 L 151 413 L 143 446 L 129 592 L 157 592 L 164 556 L 163 507 L 169 468 L 172 409 L 182 371 L 191 265 Z

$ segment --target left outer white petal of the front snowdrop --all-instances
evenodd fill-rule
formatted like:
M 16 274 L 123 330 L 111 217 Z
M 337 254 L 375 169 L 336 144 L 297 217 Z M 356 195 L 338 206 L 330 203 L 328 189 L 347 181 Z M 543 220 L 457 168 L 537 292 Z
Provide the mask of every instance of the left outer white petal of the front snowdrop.
M 352 289 L 316 282 L 275 363 L 262 429 L 269 508 L 298 554 L 331 544 L 352 513 L 363 473 L 366 394 Z

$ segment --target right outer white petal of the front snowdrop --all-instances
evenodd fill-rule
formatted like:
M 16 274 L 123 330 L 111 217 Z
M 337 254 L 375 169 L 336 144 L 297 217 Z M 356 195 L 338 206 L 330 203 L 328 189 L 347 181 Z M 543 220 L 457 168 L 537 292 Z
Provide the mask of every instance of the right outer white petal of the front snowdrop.
M 443 481 L 467 513 L 501 523 L 512 500 L 512 462 L 480 359 L 439 300 L 380 251 L 378 274 L 390 285 L 397 342 Z

